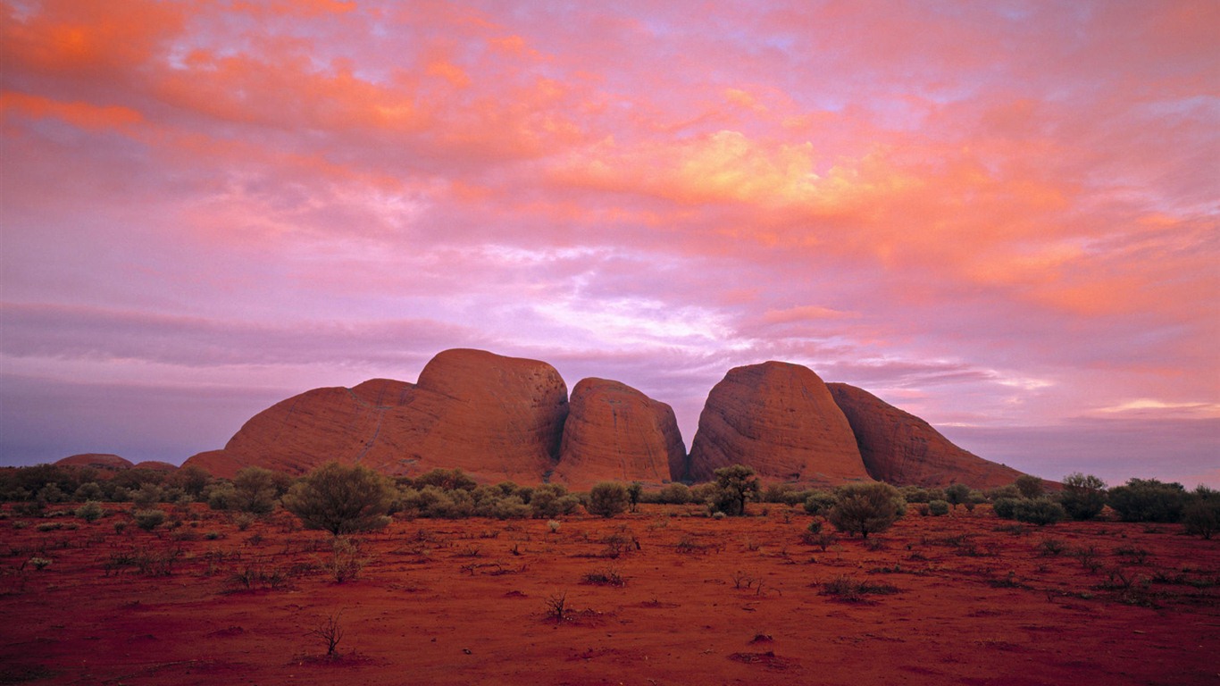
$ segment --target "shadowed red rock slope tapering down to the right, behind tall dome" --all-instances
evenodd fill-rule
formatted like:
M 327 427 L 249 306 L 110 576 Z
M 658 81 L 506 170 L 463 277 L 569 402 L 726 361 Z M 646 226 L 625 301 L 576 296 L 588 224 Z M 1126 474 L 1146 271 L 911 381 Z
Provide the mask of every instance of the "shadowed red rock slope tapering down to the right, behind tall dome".
M 874 478 L 900 486 L 965 483 L 971 488 L 994 488 L 1021 476 L 1015 469 L 963 450 L 926 421 L 863 388 L 847 383 L 828 386 L 852 425 L 864 466 Z

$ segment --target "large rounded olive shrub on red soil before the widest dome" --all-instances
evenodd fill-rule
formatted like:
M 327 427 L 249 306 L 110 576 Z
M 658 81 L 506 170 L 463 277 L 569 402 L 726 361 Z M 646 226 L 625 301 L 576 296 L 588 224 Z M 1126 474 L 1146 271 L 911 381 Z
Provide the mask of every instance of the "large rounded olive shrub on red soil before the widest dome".
M 384 476 L 361 465 L 327 463 L 293 486 L 283 503 L 306 529 L 340 536 L 389 524 L 393 500 L 394 488 Z

